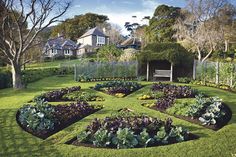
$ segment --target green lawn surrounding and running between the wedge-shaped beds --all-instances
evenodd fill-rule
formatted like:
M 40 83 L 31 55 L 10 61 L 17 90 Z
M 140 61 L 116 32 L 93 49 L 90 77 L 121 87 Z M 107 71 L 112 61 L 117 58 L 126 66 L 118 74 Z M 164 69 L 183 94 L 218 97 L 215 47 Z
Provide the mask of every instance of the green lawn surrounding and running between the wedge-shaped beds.
M 32 156 L 129 156 L 129 157 L 231 157 L 236 154 L 236 94 L 223 90 L 193 85 L 194 88 L 205 92 L 209 96 L 219 96 L 229 105 L 233 112 L 230 123 L 220 129 L 213 131 L 202 126 L 191 124 L 184 120 L 172 117 L 174 125 L 181 125 L 189 129 L 192 133 L 201 138 L 194 141 L 187 141 L 167 146 L 135 148 L 124 150 L 97 149 L 88 147 L 76 147 L 64 144 L 81 132 L 94 118 L 103 118 L 111 115 L 114 111 L 128 107 L 136 112 L 165 119 L 168 116 L 158 111 L 154 111 L 141 105 L 144 100 L 137 100 L 137 97 L 150 88 L 151 82 L 144 88 L 138 90 L 125 98 L 116 98 L 102 92 L 97 92 L 105 98 L 103 102 L 93 102 L 104 105 L 104 108 L 92 114 L 66 129 L 50 136 L 46 140 L 41 140 L 31 134 L 24 132 L 16 123 L 15 115 L 23 103 L 32 99 L 42 91 L 53 90 L 61 87 L 80 85 L 82 89 L 89 89 L 96 83 L 77 83 L 73 81 L 73 76 L 49 77 L 38 82 L 29 84 L 25 90 L 0 90 L 0 157 L 32 157 Z M 149 100 L 153 101 L 153 100 Z

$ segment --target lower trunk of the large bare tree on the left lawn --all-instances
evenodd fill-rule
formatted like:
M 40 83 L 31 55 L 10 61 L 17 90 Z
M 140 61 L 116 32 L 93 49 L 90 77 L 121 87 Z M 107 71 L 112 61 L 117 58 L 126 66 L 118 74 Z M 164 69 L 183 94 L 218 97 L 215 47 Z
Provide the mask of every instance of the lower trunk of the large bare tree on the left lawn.
M 21 75 L 21 66 L 17 63 L 12 63 L 12 85 L 15 89 L 24 88 Z

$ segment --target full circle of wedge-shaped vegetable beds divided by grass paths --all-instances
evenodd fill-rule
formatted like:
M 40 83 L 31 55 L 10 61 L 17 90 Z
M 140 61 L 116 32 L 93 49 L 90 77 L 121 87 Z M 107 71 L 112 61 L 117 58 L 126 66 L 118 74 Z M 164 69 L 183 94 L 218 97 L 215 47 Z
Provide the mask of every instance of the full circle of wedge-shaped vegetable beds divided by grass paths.
M 109 81 L 96 84 L 93 89 L 124 97 L 142 87 L 137 82 Z M 207 97 L 189 86 L 155 83 L 148 93 L 138 99 L 156 99 L 155 103 L 142 105 L 213 130 L 222 128 L 232 116 L 230 109 L 220 98 Z M 81 91 L 79 86 L 62 88 L 36 96 L 32 101 L 35 104 L 26 104 L 20 108 L 16 119 L 25 131 L 46 139 L 103 108 L 87 101 L 103 100 L 92 91 Z M 56 101 L 75 102 L 55 106 L 48 104 Z M 83 132 L 66 143 L 125 149 L 168 145 L 197 138 L 199 137 L 190 133 L 187 128 L 173 125 L 170 118 L 163 121 L 125 108 L 104 119 L 94 119 Z

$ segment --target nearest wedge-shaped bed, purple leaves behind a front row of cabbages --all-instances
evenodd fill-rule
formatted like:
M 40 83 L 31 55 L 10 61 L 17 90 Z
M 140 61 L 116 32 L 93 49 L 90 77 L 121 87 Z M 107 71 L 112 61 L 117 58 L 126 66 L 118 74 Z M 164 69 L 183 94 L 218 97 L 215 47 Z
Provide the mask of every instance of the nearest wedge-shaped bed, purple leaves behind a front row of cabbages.
M 170 118 L 162 121 L 125 108 L 102 120 L 94 119 L 85 131 L 67 144 L 127 149 L 168 145 L 197 138 L 184 128 L 174 126 Z

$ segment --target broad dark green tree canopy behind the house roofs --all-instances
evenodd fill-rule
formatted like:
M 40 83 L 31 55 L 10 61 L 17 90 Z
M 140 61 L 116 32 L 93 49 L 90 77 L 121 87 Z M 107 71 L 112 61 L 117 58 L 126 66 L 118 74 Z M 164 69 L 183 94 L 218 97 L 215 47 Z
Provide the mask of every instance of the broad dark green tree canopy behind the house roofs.
M 74 18 L 66 19 L 53 30 L 51 36 L 55 37 L 63 34 L 66 38 L 76 41 L 88 29 L 96 27 L 108 20 L 107 16 L 98 15 L 94 13 L 87 13 L 84 15 L 77 15 Z

